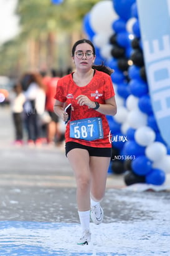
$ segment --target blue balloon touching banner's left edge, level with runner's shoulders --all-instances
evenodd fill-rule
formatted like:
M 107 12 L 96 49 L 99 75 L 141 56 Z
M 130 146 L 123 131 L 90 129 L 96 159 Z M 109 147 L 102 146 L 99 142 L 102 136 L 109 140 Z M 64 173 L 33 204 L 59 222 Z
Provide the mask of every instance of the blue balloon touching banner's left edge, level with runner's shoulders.
M 141 97 L 148 93 L 148 84 L 142 79 L 131 79 L 129 86 L 131 94 L 136 97 Z

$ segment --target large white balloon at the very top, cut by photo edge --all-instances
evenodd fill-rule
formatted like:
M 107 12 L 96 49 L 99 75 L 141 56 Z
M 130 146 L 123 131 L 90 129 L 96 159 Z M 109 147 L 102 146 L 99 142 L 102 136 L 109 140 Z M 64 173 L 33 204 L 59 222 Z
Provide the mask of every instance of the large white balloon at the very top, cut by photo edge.
M 93 6 L 90 12 L 90 25 L 95 33 L 112 33 L 111 25 L 118 18 L 113 9 L 112 1 L 100 1 Z

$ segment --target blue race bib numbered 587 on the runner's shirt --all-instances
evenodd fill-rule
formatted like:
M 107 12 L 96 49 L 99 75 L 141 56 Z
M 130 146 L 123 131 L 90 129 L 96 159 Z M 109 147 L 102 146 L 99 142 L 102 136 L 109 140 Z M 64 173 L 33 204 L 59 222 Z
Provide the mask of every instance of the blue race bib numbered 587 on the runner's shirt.
M 85 118 L 71 121 L 70 138 L 88 141 L 102 139 L 102 118 Z

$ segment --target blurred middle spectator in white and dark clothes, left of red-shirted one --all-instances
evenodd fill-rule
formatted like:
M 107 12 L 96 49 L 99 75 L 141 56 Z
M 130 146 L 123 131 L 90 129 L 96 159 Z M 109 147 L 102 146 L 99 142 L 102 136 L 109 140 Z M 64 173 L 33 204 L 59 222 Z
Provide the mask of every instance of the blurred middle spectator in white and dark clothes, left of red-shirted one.
M 40 116 L 45 110 L 45 85 L 42 83 L 42 76 L 39 73 L 27 73 L 26 82 L 26 103 L 24 111 L 26 113 L 25 121 L 27 128 L 27 143 L 29 145 L 42 144 L 42 127 Z

